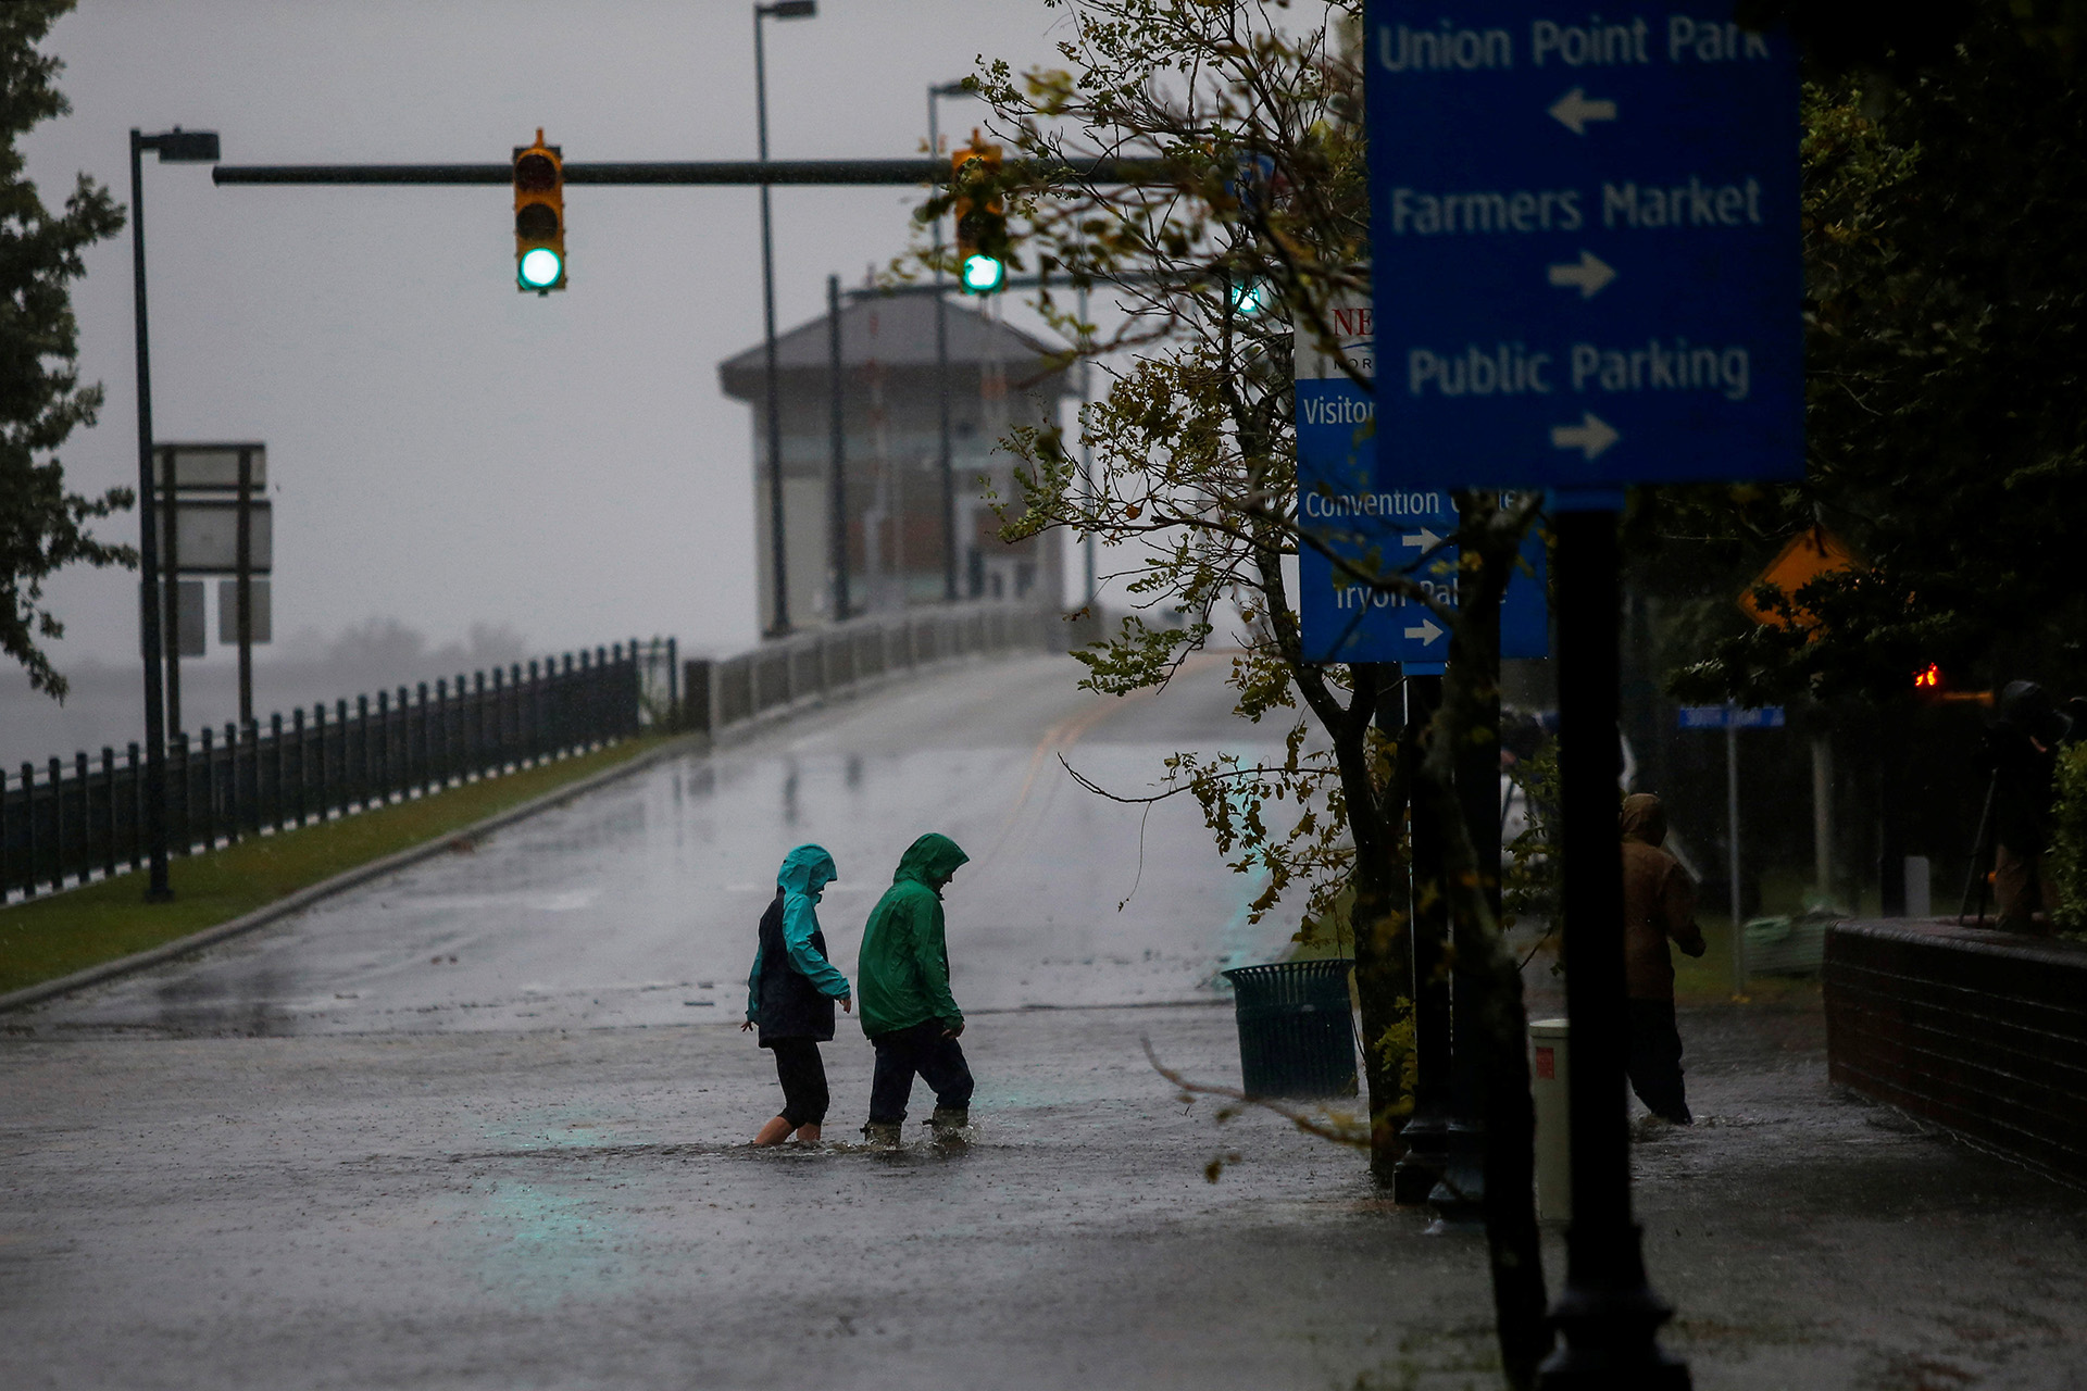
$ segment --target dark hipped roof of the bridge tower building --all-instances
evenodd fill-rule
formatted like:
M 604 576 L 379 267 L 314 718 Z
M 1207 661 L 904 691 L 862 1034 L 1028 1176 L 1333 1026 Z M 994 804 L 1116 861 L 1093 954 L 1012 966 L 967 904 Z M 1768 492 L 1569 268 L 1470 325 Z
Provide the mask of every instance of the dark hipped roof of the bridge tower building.
M 1060 352 L 1041 338 L 995 323 L 966 304 L 952 302 L 945 315 L 950 363 L 960 369 L 977 369 L 989 355 L 998 355 L 1008 380 L 1021 382 L 1039 375 L 1046 367 L 1044 359 Z M 776 336 L 776 367 L 785 377 L 791 373 L 824 375 L 829 357 L 826 315 Z M 912 369 L 935 365 L 935 296 L 866 294 L 841 304 L 841 367 L 864 367 L 872 361 Z M 753 344 L 718 363 L 724 394 L 735 400 L 751 400 L 762 390 L 764 367 L 764 344 Z M 1056 394 L 1073 390 L 1062 371 L 1054 373 L 1050 386 Z

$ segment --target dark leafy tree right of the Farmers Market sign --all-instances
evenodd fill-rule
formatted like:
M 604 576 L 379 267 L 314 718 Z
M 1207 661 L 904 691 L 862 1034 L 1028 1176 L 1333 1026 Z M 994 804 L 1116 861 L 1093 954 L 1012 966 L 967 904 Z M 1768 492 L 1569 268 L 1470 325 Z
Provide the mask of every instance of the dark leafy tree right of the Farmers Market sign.
M 1678 690 L 1903 707 L 1928 663 L 2087 682 L 2087 13 L 1795 10 L 1807 473 L 1640 498 L 1638 582 L 1693 599 L 1701 634 Z M 1732 594 L 1809 528 L 1857 563 L 1741 619 Z

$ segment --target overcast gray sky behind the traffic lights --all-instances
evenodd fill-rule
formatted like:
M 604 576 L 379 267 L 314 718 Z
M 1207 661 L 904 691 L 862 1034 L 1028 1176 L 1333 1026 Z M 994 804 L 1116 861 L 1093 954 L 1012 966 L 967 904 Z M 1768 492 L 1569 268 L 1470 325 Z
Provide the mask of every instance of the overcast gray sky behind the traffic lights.
M 50 35 L 73 115 L 27 140 L 48 200 L 129 200 L 127 131 L 217 129 L 225 163 L 751 158 L 743 0 L 83 0 Z M 922 90 L 1050 56 L 1041 0 L 820 0 L 768 25 L 770 150 L 906 156 Z M 945 104 L 945 129 L 983 108 Z M 751 190 L 568 194 L 570 290 L 513 290 L 505 188 L 215 188 L 146 163 L 161 440 L 265 440 L 275 632 L 399 615 L 532 649 L 755 638 L 747 409 L 716 363 L 760 338 Z M 912 190 L 778 190 L 778 315 L 908 238 Z M 75 290 L 100 425 L 77 490 L 136 482 L 129 234 Z M 125 517 L 106 528 L 136 538 Z M 1073 567 L 1077 569 L 1077 565 Z M 134 578 L 69 571 L 61 665 L 136 655 Z M 223 655 L 213 651 L 213 661 Z

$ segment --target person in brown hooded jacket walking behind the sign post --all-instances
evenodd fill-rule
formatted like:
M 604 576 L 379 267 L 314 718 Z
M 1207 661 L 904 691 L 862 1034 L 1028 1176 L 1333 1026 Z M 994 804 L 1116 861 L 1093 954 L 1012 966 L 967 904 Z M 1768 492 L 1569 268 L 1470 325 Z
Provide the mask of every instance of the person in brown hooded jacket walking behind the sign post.
M 1651 792 L 1624 799 L 1624 986 L 1630 1011 L 1630 1089 L 1655 1116 L 1678 1126 L 1693 1122 L 1682 1087 L 1682 1034 L 1674 1022 L 1672 938 L 1684 953 L 1703 955 L 1695 922 L 1695 884 L 1680 861 L 1661 849 L 1668 811 Z M 1738 932 L 1741 926 L 1732 924 Z

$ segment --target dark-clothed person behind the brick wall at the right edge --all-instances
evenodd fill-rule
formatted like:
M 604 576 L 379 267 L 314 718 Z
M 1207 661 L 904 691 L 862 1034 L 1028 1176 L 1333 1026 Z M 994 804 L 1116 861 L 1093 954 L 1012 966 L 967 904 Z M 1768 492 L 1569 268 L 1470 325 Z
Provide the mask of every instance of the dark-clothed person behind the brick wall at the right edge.
M 2049 934 L 2052 899 L 2043 851 L 2052 843 L 2052 784 L 2058 747 L 2072 742 L 2074 719 L 2035 682 L 2008 682 L 1999 719 L 1987 726 L 1993 757 L 1993 897 L 2006 932 Z

